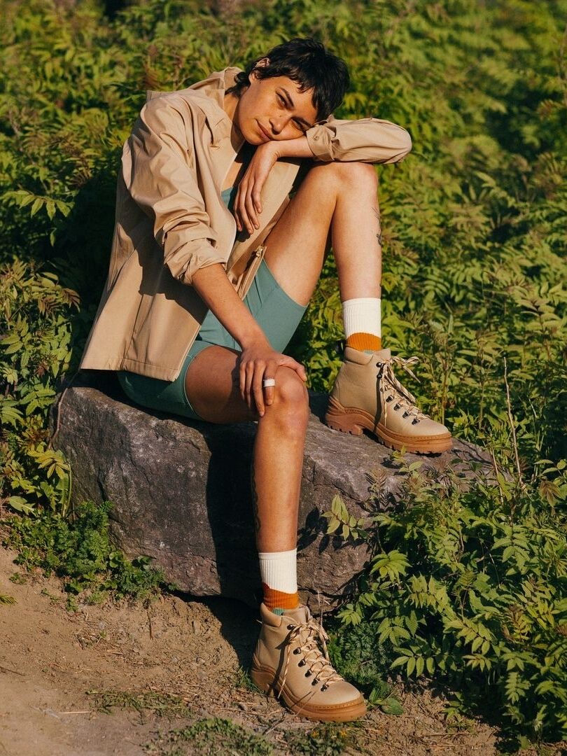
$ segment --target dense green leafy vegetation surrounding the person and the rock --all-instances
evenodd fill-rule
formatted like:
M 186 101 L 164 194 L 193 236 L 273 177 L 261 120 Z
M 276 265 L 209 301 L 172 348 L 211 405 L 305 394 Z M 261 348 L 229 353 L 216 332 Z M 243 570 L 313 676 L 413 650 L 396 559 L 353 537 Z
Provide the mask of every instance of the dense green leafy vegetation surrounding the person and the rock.
M 376 700 L 392 665 L 447 684 L 449 714 L 484 713 L 516 744 L 565 738 L 565 0 L 0 6 L 0 513 L 23 560 L 67 569 L 73 590 L 101 570 L 114 577 L 94 596 L 126 590 L 106 511 L 69 512 L 47 414 L 98 305 L 144 90 L 317 36 L 352 72 L 337 115 L 411 132 L 411 156 L 378 169 L 385 340 L 420 356 L 420 404 L 488 448 L 496 483 L 465 491 L 399 457 L 411 506 L 355 523 L 333 503 L 330 530 L 373 548 L 333 652 Z M 290 346 L 312 388 L 330 387 L 340 339 L 330 259 Z M 70 522 L 91 539 L 71 566 Z

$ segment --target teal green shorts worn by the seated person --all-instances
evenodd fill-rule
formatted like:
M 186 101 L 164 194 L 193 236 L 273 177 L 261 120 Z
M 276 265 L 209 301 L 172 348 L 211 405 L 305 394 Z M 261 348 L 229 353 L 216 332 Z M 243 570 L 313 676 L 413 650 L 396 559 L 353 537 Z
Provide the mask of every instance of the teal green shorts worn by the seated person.
M 299 305 L 283 291 L 265 260 L 260 263 L 243 301 L 268 337 L 272 348 L 276 352 L 283 352 L 295 333 L 306 306 Z M 203 420 L 191 407 L 185 393 L 185 373 L 194 358 L 212 344 L 228 346 L 238 352 L 242 351 L 240 345 L 222 326 L 212 310 L 209 310 L 197 333 L 197 338 L 187 352 L 181 372 L 174 381 L 148 378 L 138 373 L 131 373 L 129 370 L 119 370 L 117 375 L 120 386 L 132 401 L 143 407 L 182 415 L 191 420 Z

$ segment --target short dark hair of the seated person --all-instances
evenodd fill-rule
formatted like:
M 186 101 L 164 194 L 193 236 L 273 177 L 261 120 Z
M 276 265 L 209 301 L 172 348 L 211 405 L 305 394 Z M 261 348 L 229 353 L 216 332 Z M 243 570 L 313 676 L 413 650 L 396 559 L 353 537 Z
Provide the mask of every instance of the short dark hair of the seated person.
M 257 67 L 259 61 L 266 57 L 269 64 Z M 234 86 L 227 89 L 228 94 L 240 97 L 250 83 L 249 75 L 253 70 L 256 70 L 259 79 L 287 76 L 300 85 L 300 91 L 312 89 L 318 120 L 327 118 L 339 107 L 350 84 L 345 61 L 328 52 L 321 42 L 311 37 L 295 37 L 251 61 L 246 70 L 237 73 Z

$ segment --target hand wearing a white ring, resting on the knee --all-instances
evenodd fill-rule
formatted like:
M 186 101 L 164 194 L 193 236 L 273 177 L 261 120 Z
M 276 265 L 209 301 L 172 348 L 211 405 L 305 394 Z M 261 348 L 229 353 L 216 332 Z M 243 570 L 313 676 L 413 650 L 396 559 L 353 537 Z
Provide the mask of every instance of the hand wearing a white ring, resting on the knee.
M 240 353 L 240 396 L 253 409 L 252 398 L 260 417 L 264 415 L 265 404 L 274 401 L 274 386 L 262 386 L 265 378 L 274 378 L 279 365 L 295 370 L 301 380 L 307 381 L 305 367 L 293 357 L 282 355 L 271 348 L 268 340 L 254 342 Z

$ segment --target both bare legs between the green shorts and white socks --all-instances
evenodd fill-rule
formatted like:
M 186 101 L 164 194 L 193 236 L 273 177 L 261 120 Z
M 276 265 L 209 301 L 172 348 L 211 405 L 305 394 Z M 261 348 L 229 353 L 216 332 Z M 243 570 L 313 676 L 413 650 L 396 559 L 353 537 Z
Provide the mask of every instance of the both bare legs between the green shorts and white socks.
M 380 296 L 376 173 L 361 163 L 314 166 L 266 240 L 265 261 L 283 290 L 307 304 L 321 274 L 329 230 L 342 299 Z M 253 499 L 260 551 L 296 545 L 308 397 L 293 370 L 279 367 L 274 403 L 252 414 L 240 398 L 238 353 L 204 349 L 185 380 L 195 410 L 212 423 L 258 420 Z

